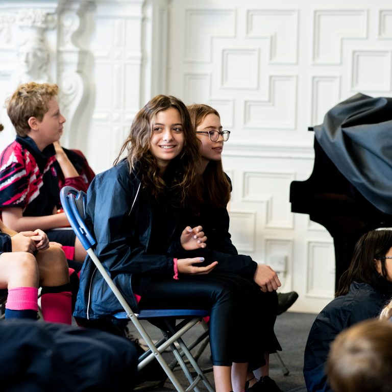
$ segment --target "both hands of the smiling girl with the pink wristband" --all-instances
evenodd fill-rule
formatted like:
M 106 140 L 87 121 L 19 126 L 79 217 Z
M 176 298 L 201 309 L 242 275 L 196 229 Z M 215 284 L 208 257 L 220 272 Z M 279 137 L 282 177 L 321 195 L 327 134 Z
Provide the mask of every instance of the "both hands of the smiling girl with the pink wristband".
M 192 251 L 195 249 L 205 248 L 207 237 L 204 235 L 202 231 L 203 228 L 201 226 L 196 226 L 191 228 L 187 226 L 183 232 L 181 233 L 181 246 L 186 251 Z M 187 259 L 178 259 L 177 267 L 178 272 L 181 274 L 189 274 L 189 275 L 204 275 L 209 274 L 218 263 L 217 261 L 212 262 L 206 266 L 197 266 L 194 264 L 202 263 L 204 261 L 204 257 L 191 257 Z

